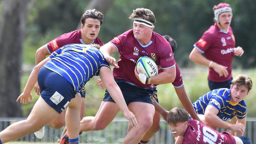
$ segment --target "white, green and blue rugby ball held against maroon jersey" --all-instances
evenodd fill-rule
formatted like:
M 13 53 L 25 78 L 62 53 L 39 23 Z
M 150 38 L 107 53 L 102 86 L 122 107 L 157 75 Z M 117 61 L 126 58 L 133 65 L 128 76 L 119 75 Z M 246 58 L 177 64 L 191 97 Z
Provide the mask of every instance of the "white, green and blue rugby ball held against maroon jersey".
M 136 69 L 138 73 L 140 73 L 139 68 L 141 68 L 143 74 L 145 74 L 147 78 L 158 75 L 158 67 L 155 61 L 149 57 L 142 56 L 138 59 L 136 63 Z

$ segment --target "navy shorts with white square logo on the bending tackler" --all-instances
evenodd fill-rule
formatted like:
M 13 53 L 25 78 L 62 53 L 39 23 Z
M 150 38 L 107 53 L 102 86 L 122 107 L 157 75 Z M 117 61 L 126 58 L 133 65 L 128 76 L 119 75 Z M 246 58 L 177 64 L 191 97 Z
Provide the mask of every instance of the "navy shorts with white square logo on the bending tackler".
M 61 113 L 75 97 L 73 85 L 44 66 L 39 71 L 37 81 L 41 97 L 58 113 Z

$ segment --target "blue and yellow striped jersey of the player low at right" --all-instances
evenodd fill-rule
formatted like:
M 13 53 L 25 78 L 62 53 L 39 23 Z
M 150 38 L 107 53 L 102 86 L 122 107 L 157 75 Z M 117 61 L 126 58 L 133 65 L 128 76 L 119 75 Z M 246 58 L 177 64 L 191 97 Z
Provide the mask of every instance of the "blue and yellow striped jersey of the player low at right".
M 239 103 L 231 103 L 230 100 L 230 89 L 215 89 L 204 96 L 201 96 L 196 102 L 193 103 L 193 107 L 197 114 L 204 114 L 207 105 L 212 105 L 219 110 L 217 116 L 221 120 L 229 120 L 234 116 L 242 119 L 246 116 L 247 107 L 244 100 Z

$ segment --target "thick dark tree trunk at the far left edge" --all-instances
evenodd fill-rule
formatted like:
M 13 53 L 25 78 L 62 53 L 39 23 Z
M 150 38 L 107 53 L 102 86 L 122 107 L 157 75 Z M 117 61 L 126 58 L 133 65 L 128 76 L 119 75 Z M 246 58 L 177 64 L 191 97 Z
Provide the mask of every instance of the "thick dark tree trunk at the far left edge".
M 20 94 L 22 48 L 29 0 L 4 0 L 0 23 L 0 117 L 22 116 Z

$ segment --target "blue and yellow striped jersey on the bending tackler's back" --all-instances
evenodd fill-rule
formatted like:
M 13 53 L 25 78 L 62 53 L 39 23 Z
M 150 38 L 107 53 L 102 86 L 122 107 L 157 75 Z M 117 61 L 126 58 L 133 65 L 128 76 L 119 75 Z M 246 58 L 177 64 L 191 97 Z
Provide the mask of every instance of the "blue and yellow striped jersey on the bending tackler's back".
M 49 57 L 51 60 L 44 66 L 67 79 L 75 92 L 80 91 L 90 78 L 98 76 L 102 66 L 110 68 L 100 50 L 85 44 L 67 44 Z

